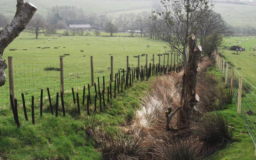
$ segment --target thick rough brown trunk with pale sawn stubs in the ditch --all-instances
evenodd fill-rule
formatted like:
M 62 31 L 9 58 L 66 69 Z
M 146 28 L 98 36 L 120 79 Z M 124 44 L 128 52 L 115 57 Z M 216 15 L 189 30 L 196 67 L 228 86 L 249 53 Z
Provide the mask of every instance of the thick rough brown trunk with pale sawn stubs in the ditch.
M 188 128 L 192 109 L 199 101 L 199 97 L 196 94 L 196 75 L 198 72 L 198 61 L 201 57 L 202 47 L 200 45 L 196 46 L 196 39 L 194 35 L 189 36 L 188 47 L 188 65 L 184 70 L 183 75 L 180 99 L 181 109 L 178 111 L 177 121 L 177 127 L 180 130 Z

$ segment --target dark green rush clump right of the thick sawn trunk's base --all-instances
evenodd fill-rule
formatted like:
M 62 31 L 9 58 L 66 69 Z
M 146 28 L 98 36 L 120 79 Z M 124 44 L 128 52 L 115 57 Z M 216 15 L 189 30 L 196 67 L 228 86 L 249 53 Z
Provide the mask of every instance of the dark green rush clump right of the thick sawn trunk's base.
M 202 119 L 191 126 L 192 136 L 208 145 L 222 146 L 233 138 L 234 129 L 228 126 L 227 116 L 220 112 L 206 113 Z

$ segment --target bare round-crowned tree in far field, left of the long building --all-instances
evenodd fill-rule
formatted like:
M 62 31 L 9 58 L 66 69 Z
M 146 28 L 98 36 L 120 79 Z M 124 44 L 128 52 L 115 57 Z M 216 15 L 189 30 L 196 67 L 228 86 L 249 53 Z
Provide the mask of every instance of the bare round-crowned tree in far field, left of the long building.
M 46 27 L 46 22 L 40 15 L 36 15 L 36 17 L 33 17 L 32 20 L 28 23 L 28 30 L 35 32 L 36 39 L 38 39 L 39 34 L 45 33 L 47 31 Z

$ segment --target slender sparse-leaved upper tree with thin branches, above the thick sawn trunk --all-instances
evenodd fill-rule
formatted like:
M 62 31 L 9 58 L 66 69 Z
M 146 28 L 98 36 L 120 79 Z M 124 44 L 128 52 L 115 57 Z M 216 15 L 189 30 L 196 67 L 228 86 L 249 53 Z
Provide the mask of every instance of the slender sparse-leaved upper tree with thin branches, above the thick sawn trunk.
M 160 8 L 152 11 L 152 29 L 170 47 L 170 52 L 184 57 L 188 65 L 188 36 L 196 35 L 200 24 L 212 12 L 211 0 L 161 0 Z M 180 58 L 180 60 L 182 60 Z

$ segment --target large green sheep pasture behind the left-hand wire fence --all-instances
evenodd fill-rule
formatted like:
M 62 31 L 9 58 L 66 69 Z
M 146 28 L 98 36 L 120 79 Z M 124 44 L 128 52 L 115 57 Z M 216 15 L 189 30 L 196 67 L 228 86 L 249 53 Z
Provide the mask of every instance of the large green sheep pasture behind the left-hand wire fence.
M 32 94 L 39 98 L 41 88 L 46 90 L 47 85 L 52 93 L 59 91 L 60 56 L 64 54 L 66 54 L 64 57 L 65 91 L 70 91 L 71 87 L 76 89 L 82 88 L 84 85 L 87 86 L 88 83 L 91 84 L 91 56 L 93 56 L 94 82 L 98 84 L 97 77 L 99 77 L 101 85 L 102 76 L 105 76 L 106 85 L 110 79 L 110 56 L 113 56 L 114 59 L 114 73 L 119 69 L 121 71 L 126 68 L 126 56 L 129 56 L 129 65 L 132 70 L 138 66 L 138 55 L 140 55 L 140 65 L 142 66 L 146 64 L 146 55 L 144 54 L 148 54 L 148 64 L 153 62 L 153 54 L 155 54 L 155 62 L 158 63 L 157 54 L 161 54 L 161 64 L 163 64 L 164 46 L 166 45 L 163 41 L 126 36 L 127 34 L 122 35 L 121 33 L 114 37 L 44 36 L 41 34 L 39 39 L 35 39 L 33 33 L 22 32 L 5 49 L 3 55 L 5 59 L 8 59 L 8 56 L 13 57 L 15 95 L 20 99 L 23 89 L 26 99 L 30 98 Z M 49 39 L 51 40 L 49 41 Z M 174 56 L 172 61 L 174 61 Z M 165 55 L 165 64 L 167 64 L 167 55 Z M 49 67 L 55 69 L 44 70 Z M 8 69 L 6 69 L 6 74 L 8 75 Z M 8 106 L 8 76 L 0 95 L 2 97 L 1 107 Z

